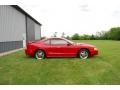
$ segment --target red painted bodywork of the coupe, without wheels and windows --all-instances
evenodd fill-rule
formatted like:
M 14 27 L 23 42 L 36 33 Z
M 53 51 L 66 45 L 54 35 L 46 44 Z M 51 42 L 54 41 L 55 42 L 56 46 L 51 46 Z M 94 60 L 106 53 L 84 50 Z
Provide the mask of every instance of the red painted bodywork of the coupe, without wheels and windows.
M 46 39 L 51 40 L 51 39 Z M 31 43 L 27 45 L 25 49 L 26 55 L 34 56 L 37 50 L 43 50 L 46 57 L 77 57 L 81 49 L 86 49 L 89 51 L 89 56 L 94 56 L 98 54 L 98 50 L 94 50 L 93 45 L 88 44 L 60 44 L 60 45 L 51 45 L 46 44 L 44 41 L 39 41 L 36 43 Z

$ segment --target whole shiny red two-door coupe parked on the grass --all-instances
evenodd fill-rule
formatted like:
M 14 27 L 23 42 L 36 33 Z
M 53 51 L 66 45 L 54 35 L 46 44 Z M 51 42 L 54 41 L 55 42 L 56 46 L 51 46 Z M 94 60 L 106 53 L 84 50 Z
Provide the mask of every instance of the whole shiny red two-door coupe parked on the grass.
M 45 57 L 80 57 L 86 59 L 98 54 L 98 49 L 89 44 L 74 43 L 64 38 L 48 38 L 29 42 L 25 49 L 26 55 L 36 59 Z

